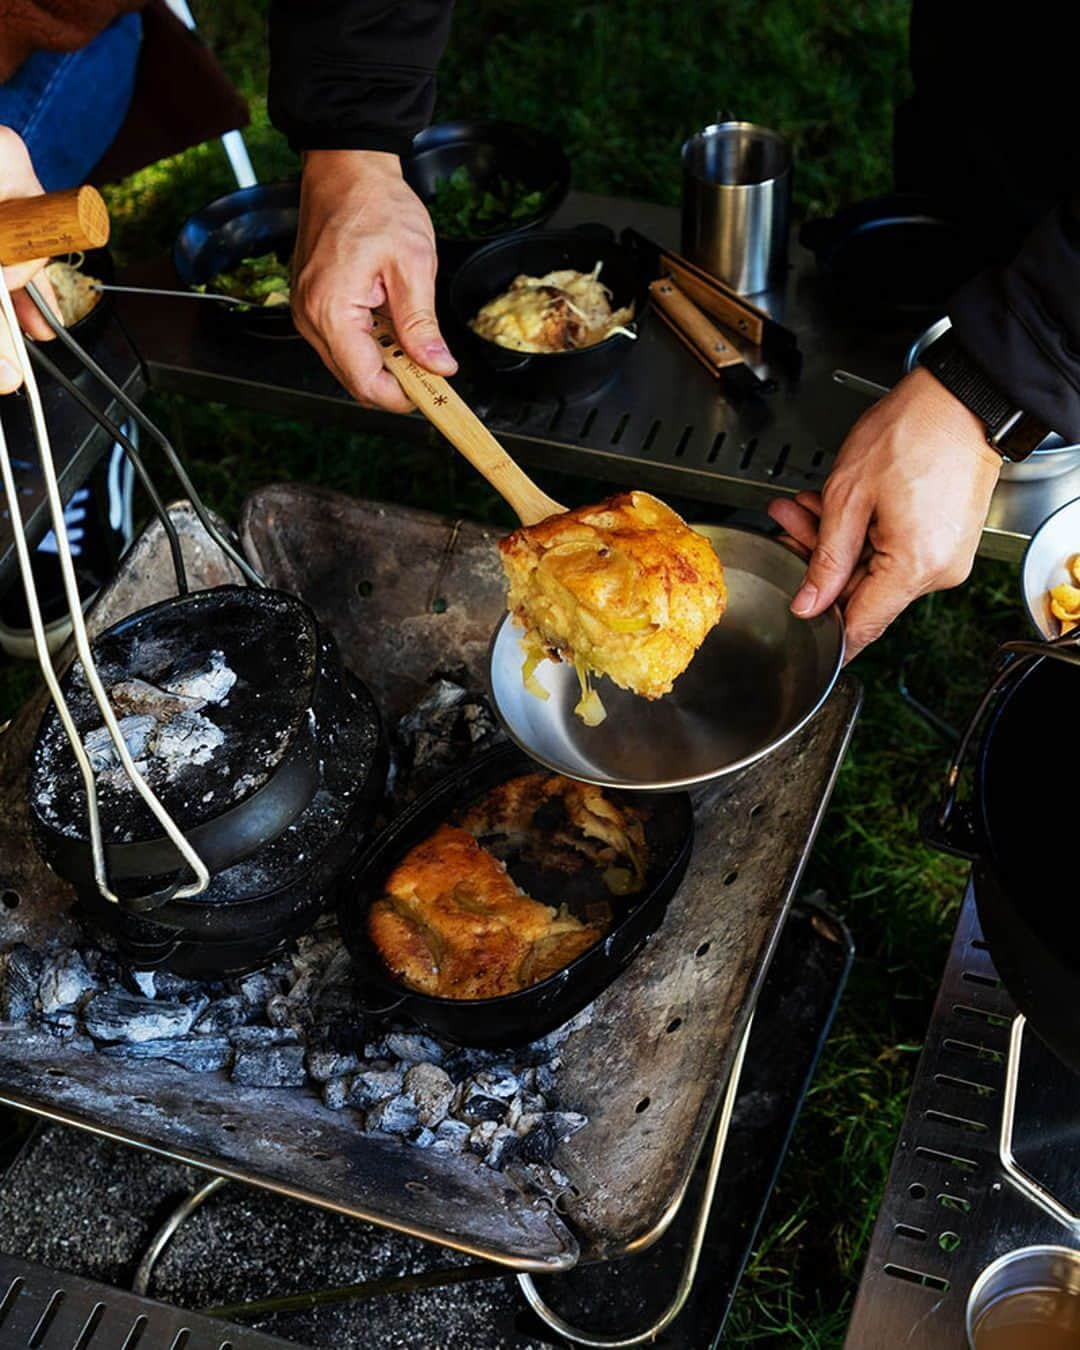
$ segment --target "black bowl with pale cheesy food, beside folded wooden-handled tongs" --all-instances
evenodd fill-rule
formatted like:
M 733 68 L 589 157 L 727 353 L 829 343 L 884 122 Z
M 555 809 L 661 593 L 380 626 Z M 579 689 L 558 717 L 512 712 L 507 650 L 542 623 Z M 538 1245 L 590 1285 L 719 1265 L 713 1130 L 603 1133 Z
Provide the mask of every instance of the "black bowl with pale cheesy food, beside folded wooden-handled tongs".
M 602 389 L 632 351 L 648 282 L 609 231 L 544 230 L 473 254 L 451 281 L 450 309 L 483 373 L 575 398 Z

